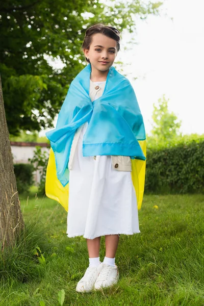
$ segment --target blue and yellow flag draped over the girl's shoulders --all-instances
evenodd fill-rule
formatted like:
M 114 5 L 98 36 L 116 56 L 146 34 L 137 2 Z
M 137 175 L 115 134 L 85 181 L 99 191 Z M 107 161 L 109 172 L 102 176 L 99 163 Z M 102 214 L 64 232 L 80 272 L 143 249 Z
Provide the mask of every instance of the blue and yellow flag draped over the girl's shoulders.
M 93 103 L 89 97 L 91 65 L 71 82 L 59 113 L 56 129 L 46 133 L 50 155 L 45 192 L 68 211 L 68 162 L 75 131 L 88 121 L 83 156 L 130 156 L 138 209 L 144 193 L 146 136 L 143 118 L 132 85 L 112 66 L 104 93 Z M 116 170 L 117 171 L 117 170 Z

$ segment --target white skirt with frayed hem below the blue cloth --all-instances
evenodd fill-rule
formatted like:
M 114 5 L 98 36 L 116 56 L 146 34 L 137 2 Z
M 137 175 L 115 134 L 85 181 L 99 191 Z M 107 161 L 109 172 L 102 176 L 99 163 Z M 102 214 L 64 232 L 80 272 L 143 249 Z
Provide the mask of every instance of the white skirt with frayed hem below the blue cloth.
M 83 157 L 83 126 L 69 173 L 67 237 L 140 233 L 130 171 L 113 169 L 111 156 Z

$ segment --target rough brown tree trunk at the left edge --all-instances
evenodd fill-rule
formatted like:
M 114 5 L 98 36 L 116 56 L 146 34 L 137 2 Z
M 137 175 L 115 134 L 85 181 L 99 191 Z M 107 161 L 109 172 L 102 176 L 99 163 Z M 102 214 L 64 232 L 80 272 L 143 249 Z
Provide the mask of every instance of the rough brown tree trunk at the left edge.
M 23 227 L 0 75 L 0 248 L 14 245 Z

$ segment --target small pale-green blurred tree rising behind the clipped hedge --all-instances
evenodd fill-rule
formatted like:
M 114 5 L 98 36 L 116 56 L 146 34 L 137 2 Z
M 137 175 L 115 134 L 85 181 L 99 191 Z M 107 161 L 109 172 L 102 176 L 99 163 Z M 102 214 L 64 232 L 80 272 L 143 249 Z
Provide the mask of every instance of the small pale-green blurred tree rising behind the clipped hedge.
M 158 100 L 158 104 L 154 104 L 150 144 L 170 144 L 181 136 L 181 121 L 178 120 L 173 112 L 169 112 L 168 101 L 169 99 L 166 99 L 165 95 L 163 95 Z

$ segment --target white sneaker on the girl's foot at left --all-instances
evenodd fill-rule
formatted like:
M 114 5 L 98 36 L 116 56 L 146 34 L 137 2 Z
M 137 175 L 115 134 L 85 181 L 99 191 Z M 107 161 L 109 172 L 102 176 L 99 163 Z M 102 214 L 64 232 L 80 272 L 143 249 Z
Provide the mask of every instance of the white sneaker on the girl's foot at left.
M 84 276 L 77 284 L 77 292 L 89 292 L 94 288 L 94 283 L 102 269 L 102 263 L 100 262 L 98 267 L 88 267 Z

